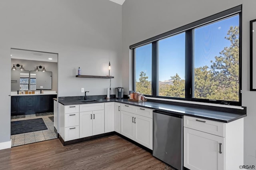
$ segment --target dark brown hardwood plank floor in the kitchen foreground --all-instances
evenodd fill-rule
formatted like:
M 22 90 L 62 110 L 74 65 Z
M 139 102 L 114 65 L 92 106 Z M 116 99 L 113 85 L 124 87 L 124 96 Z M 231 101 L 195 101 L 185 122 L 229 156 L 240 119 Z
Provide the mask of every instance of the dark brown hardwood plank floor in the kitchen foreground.
M 173 170 L 117 135 L 67 146 L 53 139 L 0 150 L 0 169 Z

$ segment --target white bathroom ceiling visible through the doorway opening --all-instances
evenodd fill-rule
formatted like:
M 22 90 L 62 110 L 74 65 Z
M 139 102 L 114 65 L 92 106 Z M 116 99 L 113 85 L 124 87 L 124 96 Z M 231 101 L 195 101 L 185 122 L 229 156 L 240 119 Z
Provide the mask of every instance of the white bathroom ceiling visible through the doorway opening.
M 13 59 L 26 59 L 34 61 L 47 61 L 47 62 L 58 62 L 57 53 L 48 53 L 41 51 L 30 51 L 24 49 L 11 49 L 11 58 Z M 52 59 L 49 59 L 52 58 Z

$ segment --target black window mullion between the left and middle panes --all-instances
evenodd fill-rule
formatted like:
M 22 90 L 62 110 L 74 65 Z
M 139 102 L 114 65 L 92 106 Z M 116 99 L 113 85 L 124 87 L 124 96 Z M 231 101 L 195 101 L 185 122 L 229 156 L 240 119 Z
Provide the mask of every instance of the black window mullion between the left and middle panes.
M 158 42 L 152 42 L 152 96 L 158 95 Z

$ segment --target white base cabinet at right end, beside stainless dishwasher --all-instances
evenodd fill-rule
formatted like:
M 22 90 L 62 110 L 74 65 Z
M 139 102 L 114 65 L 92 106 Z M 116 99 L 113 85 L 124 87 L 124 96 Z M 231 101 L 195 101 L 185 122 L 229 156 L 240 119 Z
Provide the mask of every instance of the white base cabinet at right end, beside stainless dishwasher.
M 244 164 L 244 119 L 221 123 L 184 116 L 184 167 L 234 170 Z

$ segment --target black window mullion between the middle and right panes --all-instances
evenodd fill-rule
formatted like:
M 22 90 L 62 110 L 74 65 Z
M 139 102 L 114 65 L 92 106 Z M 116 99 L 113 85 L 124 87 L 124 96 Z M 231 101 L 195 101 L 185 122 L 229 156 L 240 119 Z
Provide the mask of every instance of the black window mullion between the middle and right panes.
M 185 98 L 191 99 L 193 88 L 193 32 L 192 30 L 186 31 L 185 35 Z

